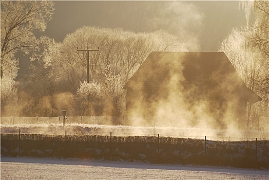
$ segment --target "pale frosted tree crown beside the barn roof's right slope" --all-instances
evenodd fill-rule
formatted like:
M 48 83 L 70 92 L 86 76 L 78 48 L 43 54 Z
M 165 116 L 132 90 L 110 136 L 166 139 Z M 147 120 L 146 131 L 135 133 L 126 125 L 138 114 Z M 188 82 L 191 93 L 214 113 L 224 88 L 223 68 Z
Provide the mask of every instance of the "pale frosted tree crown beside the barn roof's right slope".
M 222 41 L 220 50 L 225 51 L 248 88 L 256 91 L 255 83 L 264 70 L 266 59 L 259 56 L 257 49 L 249 43 L 245 29 L 233 29 L 232 33 Z

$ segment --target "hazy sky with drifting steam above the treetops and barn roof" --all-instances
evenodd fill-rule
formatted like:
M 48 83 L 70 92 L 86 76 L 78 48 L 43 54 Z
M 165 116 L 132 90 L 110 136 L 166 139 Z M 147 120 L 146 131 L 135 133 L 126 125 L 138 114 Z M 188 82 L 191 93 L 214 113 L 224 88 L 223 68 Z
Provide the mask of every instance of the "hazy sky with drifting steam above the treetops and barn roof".
M 234 27 L 246 23 L 239 1 L 54 1 L 54 8 L 45 35 L 57 42 L 83 26 L 132 32 L 163 29 L 191 50 L 217 51 Z

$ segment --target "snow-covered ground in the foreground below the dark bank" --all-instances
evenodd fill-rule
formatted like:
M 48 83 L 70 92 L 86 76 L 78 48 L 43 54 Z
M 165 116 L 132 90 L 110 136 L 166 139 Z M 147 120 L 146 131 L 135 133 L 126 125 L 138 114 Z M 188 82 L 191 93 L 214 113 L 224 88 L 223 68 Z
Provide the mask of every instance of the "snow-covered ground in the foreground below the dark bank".
M 1 157 L 1 179 L 268 179 L 267 170 L 90 159 Z

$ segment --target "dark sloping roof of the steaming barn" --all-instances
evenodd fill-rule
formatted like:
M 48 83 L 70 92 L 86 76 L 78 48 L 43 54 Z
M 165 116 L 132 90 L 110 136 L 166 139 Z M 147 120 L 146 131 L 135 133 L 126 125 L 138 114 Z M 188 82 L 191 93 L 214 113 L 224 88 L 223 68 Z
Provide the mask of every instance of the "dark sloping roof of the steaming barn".
M 185 82 L 202 82 L 208 80 L 208 78 L 214 78 L 215 74 L 221 74 L 223 78 L 233 76 L 229 80 L 235 80 L 239 84 L 240 89 L 238 91 L 244 92 L 248 102 L 255 103 L 262 100 L 246 87 L 224 52 L 151 52 L 123 88 L 132 88 L 137 82 L 149 78 L 151 78 L 150 81 L 153 84 L 154 82 L 158 83 L 165 74 L 170 73 L 171 69 L 182 71 Z M 152 78 L 152 74 L 156 76 Z M 221 81 L 220 79 L 219 83 Z M 230 82 L 232 85 L 233 83 Z M 152 86 L 152 83 L 149 84 Z M 147 84 L 144 84 L 144 86 L 147 86 Z

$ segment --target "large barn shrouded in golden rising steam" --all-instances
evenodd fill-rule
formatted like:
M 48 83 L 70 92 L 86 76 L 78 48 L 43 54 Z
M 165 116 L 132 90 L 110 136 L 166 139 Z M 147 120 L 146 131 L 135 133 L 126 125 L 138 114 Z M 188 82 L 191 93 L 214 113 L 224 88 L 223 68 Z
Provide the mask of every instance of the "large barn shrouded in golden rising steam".
M 247 103 L 262 100 L 224 52 L 151 52 L 123 88 L 127 116 L 182 126 L 243 129 Z

